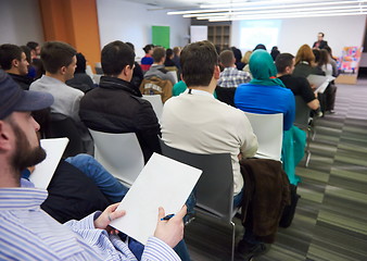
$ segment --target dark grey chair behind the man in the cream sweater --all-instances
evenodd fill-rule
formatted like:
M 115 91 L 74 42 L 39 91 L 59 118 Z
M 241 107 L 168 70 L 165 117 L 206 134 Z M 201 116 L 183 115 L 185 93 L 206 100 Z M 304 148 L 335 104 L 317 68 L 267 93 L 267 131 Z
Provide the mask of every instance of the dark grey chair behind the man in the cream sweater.
M 161 140 L 161 139 L 160 139 Z M 229 153 L 198 154 L 172 148 L 161 140 L 162 154 L 203 171 L 195 188 L 195 210 L 230 224 L 232 227 L 231 260 L 235 258 L 236 226 L 232 222 L 233 174 Z

